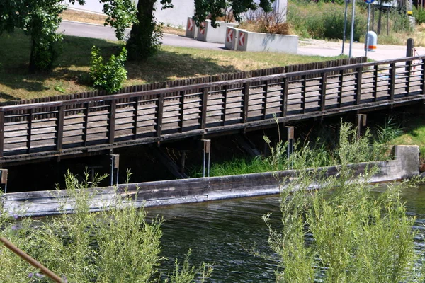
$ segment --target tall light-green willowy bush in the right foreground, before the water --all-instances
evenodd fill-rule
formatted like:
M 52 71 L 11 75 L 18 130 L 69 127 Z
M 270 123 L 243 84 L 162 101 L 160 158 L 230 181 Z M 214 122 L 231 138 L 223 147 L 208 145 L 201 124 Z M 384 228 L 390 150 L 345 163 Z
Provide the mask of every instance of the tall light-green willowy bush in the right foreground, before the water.
M 340 134 L 336 151 L 341 166 L 334 177 L 319 171 L 298 171 L 280 193 L 281 229 L 263 219 L 269 243 L 278 254 L 277 282 L 423 282 L 414 250 L 414 218 L 407 216 L 400 190 L 409 183 L 387 185 L 373 197 L 368 168 L 356 177 L 348 163 L 363 144 Z M 314 183 L 320 190 L 310 191 Z

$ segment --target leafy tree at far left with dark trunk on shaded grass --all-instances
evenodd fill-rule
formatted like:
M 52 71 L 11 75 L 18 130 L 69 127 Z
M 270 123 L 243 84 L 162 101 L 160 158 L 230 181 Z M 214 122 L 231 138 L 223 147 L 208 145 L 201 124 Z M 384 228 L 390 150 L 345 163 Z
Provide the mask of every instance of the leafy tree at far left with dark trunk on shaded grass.
M 99 0 L 103 13 L 108 15 L 105 24 L 115 28 L 118 39 L 123 40 L 124 30 L 135 21 L 135 5 L 131 0 Z M 85 0 L 69 0 L 80 5 Z M 62 21 L 60 13 L 67 8 L 62 0 L 0 0 L 0 35 L 22 29 L 31 38 L 30 72 L 50 71 L 57 57 L 55 42 L 62 40 L 56 30 Z

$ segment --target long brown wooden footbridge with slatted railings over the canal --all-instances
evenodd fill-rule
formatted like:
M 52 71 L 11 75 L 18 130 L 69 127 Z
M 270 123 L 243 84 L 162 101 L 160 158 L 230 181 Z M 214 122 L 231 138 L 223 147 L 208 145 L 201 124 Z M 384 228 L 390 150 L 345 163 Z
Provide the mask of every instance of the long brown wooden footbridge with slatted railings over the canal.
M 425 57 L 0 107 L 0 164 L 423 103 Z

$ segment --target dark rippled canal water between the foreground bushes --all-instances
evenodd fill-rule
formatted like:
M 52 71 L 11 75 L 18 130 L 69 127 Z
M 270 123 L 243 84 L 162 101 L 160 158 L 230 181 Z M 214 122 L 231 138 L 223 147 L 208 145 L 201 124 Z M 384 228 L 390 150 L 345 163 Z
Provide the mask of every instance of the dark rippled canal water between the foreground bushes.
M 405 189 L 403 199 L 415 228 L 425 233 L 425 186 Z M 272 213 L 279 224 L 279 197 L 249 197 L 197 204 L 179 204 L 147 209 L 149 216 L 162 216 L 161 270 L 173 270 L 174 259 L 182 261 L 189 249 L 191 263 L 212 263 L 212 282 L 276 282 L 276 255 L 268 246 L 268 228 L 261 217 Z M 416 247 L 425 249 L 421 236 Z M 264 256 L 258 256 L 257 253 Z

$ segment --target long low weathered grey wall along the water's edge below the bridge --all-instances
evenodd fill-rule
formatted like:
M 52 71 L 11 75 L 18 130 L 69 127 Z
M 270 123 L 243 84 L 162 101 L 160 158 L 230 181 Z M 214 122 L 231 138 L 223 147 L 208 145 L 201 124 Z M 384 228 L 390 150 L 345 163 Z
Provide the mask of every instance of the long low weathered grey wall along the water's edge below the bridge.
M 368 166 L 378 166 L 380 171 L 373 176 L 371 182 L 388 182 L 419 174 L 418 146 L 396 146 L 395 156 L 394 161 L 359 163 L 351 167 L 356 169 L 358 174 L 362 174 Z M 327 175 L 338 173 L 337 166 L 320 169 Z M 295 175 L 296 171 L 289 170 L 277 173 L 137 183 L 119 185 L 118 188 L 101 187 L 89 190 L 89 194 L 93 197 L 91 210 L 95 212 L 107 209 L 113 204 L 117 194 L 131 197 L 139 207 L 278 194 L 281 185 L 278 180 L 290 180 L 288 177 Z M 314 184 L 311 187 L 314 187 Z M 66 190 L 8 193 L 4 195 L 3 201 L 10 214 L 44 216 L 60 212 L 60 199 L 67 201 L 64 209 L 71 213 L 74 199 Z

